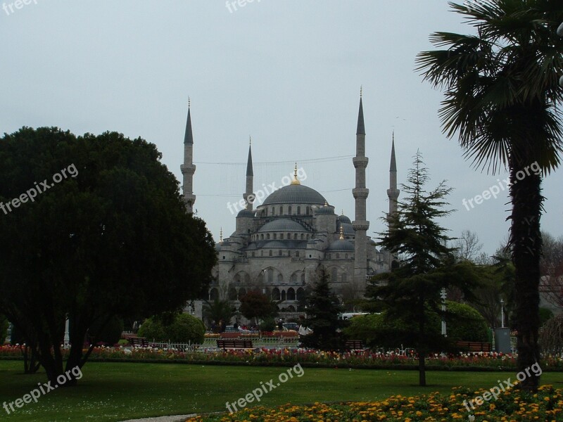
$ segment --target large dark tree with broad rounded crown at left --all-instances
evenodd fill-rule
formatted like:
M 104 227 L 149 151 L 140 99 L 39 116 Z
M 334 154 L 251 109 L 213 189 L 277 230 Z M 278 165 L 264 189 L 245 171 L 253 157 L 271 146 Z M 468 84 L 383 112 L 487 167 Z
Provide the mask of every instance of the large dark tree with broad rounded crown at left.
M 0 202 L 12 204 L 0 212 L 0 312 L 52 383 L 87 361 L 87 333 L 94 345 L 115 316 L 182 309 L 211 279 L 213 238 L 160 158 L 115 132 L 24 127 L 0 139 Z

